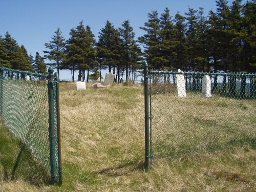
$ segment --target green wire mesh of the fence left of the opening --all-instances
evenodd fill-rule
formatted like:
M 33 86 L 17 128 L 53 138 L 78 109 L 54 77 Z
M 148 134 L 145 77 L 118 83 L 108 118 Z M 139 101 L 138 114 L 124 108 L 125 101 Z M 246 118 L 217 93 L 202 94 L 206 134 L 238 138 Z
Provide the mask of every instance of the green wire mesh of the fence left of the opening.
M 26 144 L 35 162 L 50 176 L 48 75 L 7 68 L 0 71 L 1 116 L 13 136 Z M 57 121 L 56 113 L 54 116 Z M 57 137 L 57 127 L 55 130 Z

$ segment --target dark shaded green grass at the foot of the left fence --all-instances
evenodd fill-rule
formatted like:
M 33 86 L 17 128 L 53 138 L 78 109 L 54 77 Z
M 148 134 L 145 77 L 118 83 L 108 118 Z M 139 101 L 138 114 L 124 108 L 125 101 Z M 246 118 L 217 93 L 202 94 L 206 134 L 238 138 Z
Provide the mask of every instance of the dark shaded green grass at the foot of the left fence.
M 0 120 L 0 181 L 21 179 L 35 186 L 50 184 L 50 174 L 34 161 L 27 146 L 12 134 Z

